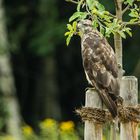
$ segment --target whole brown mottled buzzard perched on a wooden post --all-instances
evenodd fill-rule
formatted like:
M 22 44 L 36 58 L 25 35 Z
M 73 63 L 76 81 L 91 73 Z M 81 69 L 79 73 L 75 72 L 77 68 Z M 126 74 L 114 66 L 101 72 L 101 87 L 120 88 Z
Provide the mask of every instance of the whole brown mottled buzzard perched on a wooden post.
M 77 25 L 81 33 L 81 53 L 88 83 L 95 87 L 112 117 L 117 116 L 119 96 L 118 65 L 112 47 L 90 20 Z

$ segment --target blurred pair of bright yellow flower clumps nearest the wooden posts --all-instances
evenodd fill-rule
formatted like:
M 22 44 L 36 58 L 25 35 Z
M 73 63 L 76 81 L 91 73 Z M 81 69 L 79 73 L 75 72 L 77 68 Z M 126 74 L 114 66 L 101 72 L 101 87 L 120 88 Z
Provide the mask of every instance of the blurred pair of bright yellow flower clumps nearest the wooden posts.
M 40 124 L 41 140 L 79 140 L 79 136 L 72 121 L 58 123 L 53 119 L 46 119 Z

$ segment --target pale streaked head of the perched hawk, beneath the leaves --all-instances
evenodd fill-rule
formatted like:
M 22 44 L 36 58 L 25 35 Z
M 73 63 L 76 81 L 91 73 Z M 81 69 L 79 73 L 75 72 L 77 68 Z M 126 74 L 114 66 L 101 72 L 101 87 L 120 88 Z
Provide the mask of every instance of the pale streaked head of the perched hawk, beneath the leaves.
M 88 19 L 79 21 L 77 24 L 77 30 L 81 34 L 84 34 L 88 31 L 92 31 L 93 30 L 92 21 Z

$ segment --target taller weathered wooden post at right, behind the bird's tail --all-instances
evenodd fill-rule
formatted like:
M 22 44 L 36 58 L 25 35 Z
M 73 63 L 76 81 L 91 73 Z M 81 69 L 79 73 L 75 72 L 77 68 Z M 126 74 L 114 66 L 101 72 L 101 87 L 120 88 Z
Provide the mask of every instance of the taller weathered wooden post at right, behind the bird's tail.
M 138 104 L 138 82 L 134 76 L 124 76 L 121 80 L 121 97 L 124 106 Z M 138 124 L 135 122 L 121 123 L 120 140 L 138 140 Z

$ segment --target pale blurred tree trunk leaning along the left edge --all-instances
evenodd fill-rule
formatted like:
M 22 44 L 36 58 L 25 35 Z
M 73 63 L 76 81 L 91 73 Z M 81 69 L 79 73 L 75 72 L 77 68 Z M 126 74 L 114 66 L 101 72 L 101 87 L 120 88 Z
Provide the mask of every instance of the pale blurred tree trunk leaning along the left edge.
M 20 115 L 18 103 L 15 96 L 14 78 L 10 64 L 10 54 L 8 52 L 8 40 L 5 28 L 4 9 L 0 0 L 0 94 L 4 100 L 8 111 L 6 127 L 8 133 L 16 140 L 21 140 Z

